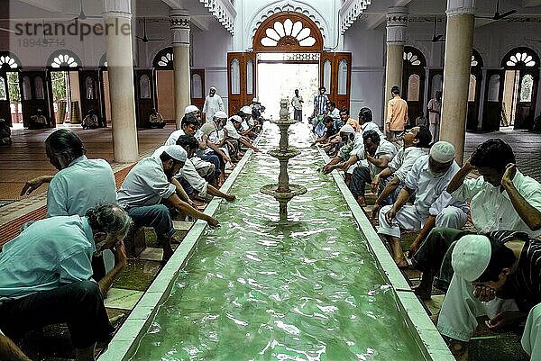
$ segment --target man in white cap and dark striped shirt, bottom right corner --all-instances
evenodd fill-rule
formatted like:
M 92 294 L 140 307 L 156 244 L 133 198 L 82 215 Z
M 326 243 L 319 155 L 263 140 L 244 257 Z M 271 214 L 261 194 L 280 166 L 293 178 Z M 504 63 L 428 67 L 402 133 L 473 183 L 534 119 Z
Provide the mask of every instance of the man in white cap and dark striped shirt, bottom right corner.
M 451 264 L 454 275 L 437 329 L 450 338 L 454 357 L 465 361 L 477 317 L 487 315 L 489 329 L 517 329 L 527 312 L 541 302 L 541 242 L 512 230 L 465 235 L 454 246 Z M 523 339 L 527 350 L 539 347 L 531 327 L 528 339 Z

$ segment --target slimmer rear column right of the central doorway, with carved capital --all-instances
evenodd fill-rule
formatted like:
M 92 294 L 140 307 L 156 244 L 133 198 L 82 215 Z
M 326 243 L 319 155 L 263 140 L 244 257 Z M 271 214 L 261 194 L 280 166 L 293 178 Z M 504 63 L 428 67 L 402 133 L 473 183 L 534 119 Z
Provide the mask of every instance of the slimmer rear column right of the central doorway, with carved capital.
M 404 40 L 408 26 L 408 8 L 390 7 L 387 12 L 387 59 L 385 61 L 385 104 L 384 120 L 387 120 L 387 103 L 391 99 L 390 89 L 402 87 L 402 65 L 404 61 Z

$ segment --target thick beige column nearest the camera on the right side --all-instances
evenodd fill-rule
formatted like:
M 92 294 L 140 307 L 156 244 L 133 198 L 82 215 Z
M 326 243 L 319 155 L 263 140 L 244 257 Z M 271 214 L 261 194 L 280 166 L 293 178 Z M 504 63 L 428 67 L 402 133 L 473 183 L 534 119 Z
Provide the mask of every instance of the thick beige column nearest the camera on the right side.
M 468 117 L 475 0 L 447 0 L 446 13 L 440 140 L 453 143 L 456 161 L 462 164 Z

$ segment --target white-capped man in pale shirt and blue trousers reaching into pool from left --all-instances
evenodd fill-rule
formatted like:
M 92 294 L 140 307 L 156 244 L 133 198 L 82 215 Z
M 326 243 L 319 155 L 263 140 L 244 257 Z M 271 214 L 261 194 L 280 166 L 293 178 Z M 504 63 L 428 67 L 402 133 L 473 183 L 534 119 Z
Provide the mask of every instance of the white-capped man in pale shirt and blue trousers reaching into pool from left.
M 156 157 L 142 158 L 124 179 L 117 192 L 118 203 L 133 218 L 136 226 L 150 226 L 156 231 L 158 242 L 163 248 L 163 262 L 172 256 L 171 238 L 175 233 L 170 209 L 162 204 L 166 201 L 173 212 L 207 221 L 217 226 L 218 221 L 197 211 L 188 203 L 188 195 L 174 176 L 184 167 L 188 155 L 178 145 L 167 146 Z M 181 201 L 177 192 L 185 201 Z

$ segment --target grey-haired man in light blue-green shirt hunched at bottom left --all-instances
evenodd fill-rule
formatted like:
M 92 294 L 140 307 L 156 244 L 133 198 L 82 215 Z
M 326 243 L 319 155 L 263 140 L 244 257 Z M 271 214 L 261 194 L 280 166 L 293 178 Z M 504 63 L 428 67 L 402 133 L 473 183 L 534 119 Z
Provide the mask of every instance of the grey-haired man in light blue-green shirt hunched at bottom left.
M 94 360 L 98 341 L 115 330 L 104 295 L 126 265 L 123 239 L 132 225 L 112 203 L 97 205 L 85 217 L 35 221 L 7 242 L 0 253 L 0 328 L 18 340 L 27 331 L 68 323 L 77 361 Z M 96 284 L 92 255 L 114 249 L 116 265 Z

